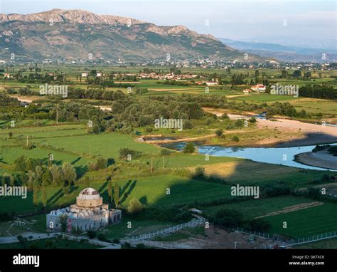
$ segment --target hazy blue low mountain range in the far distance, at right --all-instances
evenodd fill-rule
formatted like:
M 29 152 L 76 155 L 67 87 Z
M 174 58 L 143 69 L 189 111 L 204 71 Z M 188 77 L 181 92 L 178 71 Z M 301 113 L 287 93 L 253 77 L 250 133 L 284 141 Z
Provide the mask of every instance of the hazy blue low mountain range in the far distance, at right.
M 277 58 L 280 61 L 334 61 L 336 62 L 337 50 L 303 48 L 297 46 L 282 46 L 275 43 L 255 43 L 245 41 L 234 41 L 228 38 L 219 38 L 220 41 L 236 48 L 247 51 L 248 53 L 257 54 L 264 58 Z M 322 58 L 325 54 L 326 59 Z

